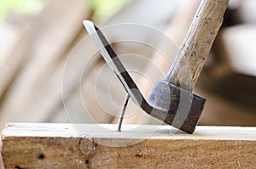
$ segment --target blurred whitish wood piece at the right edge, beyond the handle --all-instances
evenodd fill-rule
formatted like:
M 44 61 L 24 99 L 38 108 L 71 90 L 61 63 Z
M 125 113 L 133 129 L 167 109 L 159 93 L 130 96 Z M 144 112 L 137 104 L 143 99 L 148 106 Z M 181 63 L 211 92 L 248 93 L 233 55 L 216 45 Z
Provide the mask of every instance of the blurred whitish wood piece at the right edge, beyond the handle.
M 256 25 L 236 25 L 225 28 L 220 38 L 227 50 L 231 68 L 243 75 L 256 76 Z

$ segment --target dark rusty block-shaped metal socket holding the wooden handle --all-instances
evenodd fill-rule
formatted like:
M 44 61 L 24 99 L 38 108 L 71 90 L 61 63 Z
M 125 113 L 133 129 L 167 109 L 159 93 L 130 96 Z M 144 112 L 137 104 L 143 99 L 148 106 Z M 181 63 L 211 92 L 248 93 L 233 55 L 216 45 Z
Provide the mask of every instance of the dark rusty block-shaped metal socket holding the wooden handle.
M 156 82 L 148 99 L 155 109 L 150 115 L 188 133 L 195 131 L 205 103 L 206 99 L 166 81 Z

